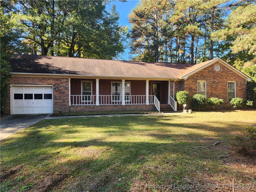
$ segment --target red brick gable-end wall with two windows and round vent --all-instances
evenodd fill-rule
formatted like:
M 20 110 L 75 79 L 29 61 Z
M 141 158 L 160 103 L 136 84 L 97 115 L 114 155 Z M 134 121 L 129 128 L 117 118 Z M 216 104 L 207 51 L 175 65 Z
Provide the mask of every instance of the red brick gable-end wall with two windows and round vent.
M 215 71 L 214 66 L 220 65 L 220 70 Z M 222 108 L 231 108 L 228 102 L 228 81 L 236 81 L 236 97 L 247 99 L 247 81 L 237 73 L 233 72 L 219 62 L 194 73 L 184 81 L 184 89 L 189 92 L 190 97 L 197 94 L 197 81 L 206 81 L 206 97 L 217 97 L 223 99 Z M 187 107 L 191 108 L 189 104 Z

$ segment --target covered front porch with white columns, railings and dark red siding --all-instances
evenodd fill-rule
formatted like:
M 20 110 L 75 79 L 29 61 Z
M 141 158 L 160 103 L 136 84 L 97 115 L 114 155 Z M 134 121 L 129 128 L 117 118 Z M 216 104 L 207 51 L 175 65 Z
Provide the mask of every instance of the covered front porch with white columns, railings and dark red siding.
M 154 110 L 160 103 L 174 111 L 170 80 L 124 80 L 69 78 L 69 106 L 74 111 Z

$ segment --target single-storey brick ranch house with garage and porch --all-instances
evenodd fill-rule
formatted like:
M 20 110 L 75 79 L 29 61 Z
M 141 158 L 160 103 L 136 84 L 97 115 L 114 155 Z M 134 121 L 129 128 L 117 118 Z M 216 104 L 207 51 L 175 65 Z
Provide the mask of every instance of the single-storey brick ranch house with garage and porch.
M 8 62 L 10 114 L 176 111 L 181 90 L 218 97 L 228 108 L 228 98 L 247 99 L 251 80 L 220 58 L 193 65 L 17 54 Z

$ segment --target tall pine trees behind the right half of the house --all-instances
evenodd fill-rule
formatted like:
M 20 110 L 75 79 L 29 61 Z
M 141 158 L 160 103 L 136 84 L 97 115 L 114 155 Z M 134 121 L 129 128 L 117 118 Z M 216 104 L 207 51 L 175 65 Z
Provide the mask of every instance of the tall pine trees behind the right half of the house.
M 129 22 L 132 60 L 256 63 L 255 1 L 141 0 Z

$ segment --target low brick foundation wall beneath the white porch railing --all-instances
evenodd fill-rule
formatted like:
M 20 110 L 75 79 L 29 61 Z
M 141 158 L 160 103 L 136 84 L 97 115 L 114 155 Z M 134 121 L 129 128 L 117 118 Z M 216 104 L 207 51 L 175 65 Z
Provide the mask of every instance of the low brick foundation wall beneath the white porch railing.
M 155 105 L 71 105 L 70 112 L 156 111 Z

